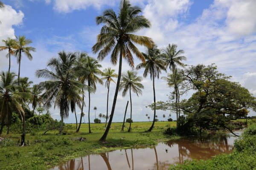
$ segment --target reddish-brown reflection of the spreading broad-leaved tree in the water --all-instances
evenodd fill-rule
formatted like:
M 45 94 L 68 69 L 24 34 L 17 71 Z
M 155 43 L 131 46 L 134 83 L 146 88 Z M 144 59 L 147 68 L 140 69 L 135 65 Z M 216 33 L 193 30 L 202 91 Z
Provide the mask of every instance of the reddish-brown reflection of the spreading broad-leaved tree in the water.
M 178 145 L 179 163 L 183 163 L 183 157 L 187 159 L 207 159 L 232 150 L 232 146 L 228 145 L 225 136 L 219 138 L 207 136 L 206 138 L 189 138 L 168 142 L 170 147 L 174 144 Z

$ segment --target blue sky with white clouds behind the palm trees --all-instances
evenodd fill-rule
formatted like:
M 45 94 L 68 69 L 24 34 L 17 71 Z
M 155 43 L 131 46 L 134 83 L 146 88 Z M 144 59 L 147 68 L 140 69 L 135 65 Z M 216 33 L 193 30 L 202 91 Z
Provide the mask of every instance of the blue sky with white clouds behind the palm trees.
M 96 42 L 101 26 L 96 25 L 96 16 L 107 8 L 118 10 L 119 0 L 2 0 L 6 4 L 0 10 L 0 40 L 15 35 L 24 35 L 32 40 L 33 59 L 23 57 L 21 77 L 29 77 L 35 84 L 44 81 L 35 76 L 37 69 L 46 68 L 47 61 L 58 57 L 58 52 L 85 51 L 91 57 L 92 46 Z M 187 65 L 215 63 L 218 71 L 232 76 L 232 81 L 239 82 L 256 96 L 256 0 L 130 0 L 132 5 L 142 8 L 142 14 L 151 21 L 151 28 L 137 34 L 151 37 L 163 49 L 169 43 L 177 44 L 185 51 Z M 3 45 L 0 42 L 0 45 Z M 140 51 L 145 48 L 138 46 Z M 0 52 L 0 70 L 8 70 L 7 51 Z M 12 57 L 11 71 L 18 71 L 16 59 Z M 140 61 L 135 59 L 135 65 Z M 103 68 L 118 68 L 111 65 L 109 57 L 100 62 Z M 122 72 L 130 70 L 123 62 Z M 143 71 L 138 71 L 142 76 Z M 166 76 L 166 73 L 160 75 Z M 150 77 L 143 78 L 143 95 L 132 94 L 133 120 L 148 121 L 145 114 L 153 119 L 153 111 L 145 106 L 153 102 L 152 82 Z M 162 79 L 156 80 L 156 100 L 166 101 L 173 91 Z M 111 112 L 115 85 L 110 85 L 109 112 Z M 188 98 L 182 96 L 181 98 Z M 88 97 L 85 102 L 88 106 Z M 97 91 L 91 95 L 90 118 L 93 120 L 97 107 L 99 113 L 106 114 L 107 89 L 97 85 Z M 122 97 L 119 92 L 114 122 L 122 122 L 126 102 L 129 96 Z M 79 109 L 76 109 L 79 112 Z M 54 119 L 60 119 L 59 110 L 50 109 Z M 88 107 L 85 108 L 85 122 L 88 120 Z M 128 115 L 130 108 L 128 107 Z M 165 120 L 157 111 L 158 119 Z M 250 112 L 249 116 L 256 113 Z M 80 115 L 79 115 L 80 116 Z M 175 113 L 172 118 L 175 119 Z M 64 122 L 75 122 L 70 112 Z

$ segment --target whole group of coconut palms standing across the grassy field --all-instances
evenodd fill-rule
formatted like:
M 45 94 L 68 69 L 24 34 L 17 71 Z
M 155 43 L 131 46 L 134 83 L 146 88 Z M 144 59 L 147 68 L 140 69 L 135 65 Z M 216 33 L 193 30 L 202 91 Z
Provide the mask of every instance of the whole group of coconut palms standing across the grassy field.
M 108 89 L 111 82 L 116 84 L 116 90 L 113 98 L 113 105 L 110 115 L 108 115 L 108 95 L 107 95 L 107 111 L 106 111 L 106 122 L 105 122 L 105 133 L 103 134 L 100 141 L 105 141 L 108 131 L 111 127 L 113 120 L 113 114 L 116 106 L 116 99 L 119 91 L 122 91 L 122 96 L 125 96 L 129 91 L 130 94 L 130 107 L 132 116 L 132 101 L 131 101 L 131 92 L 135 93 L 137 96 L 142 94 L 142 89 L 144 86 L 141 84 L 142 77 L 137 76 L 137 72 L 134 71 L 134 68 L 144 69 L 143 77 L 150 76 L 153 83 L 153 95 L 154 95 L 154 119 L 151 127 L 148 129 L 150 132 L 154 127 L 154 122 L 157 117 L 156 115 L 156 93 L 155 93 L 155 79 L 159 79 L 162 71 L 167 71 L 169 67 L 172 74 L 175 75 L 177 72 L 177 66 L 184 66 L 183 60 L 186 60 L 186 57 L 182 56 L 182 50 L 177 51 L 177 45 L 168 45 L 163 51 L 157 48 L 153 40 L 149 37 L 135 35 L 134 33 L 140 31 L 143 28 L 149 28 L 151 23 L 144 16 L 139 15 L 141 8 L 138 6 L 131 6 L 128 0 L 121 0 L 118 15 L 113 11 L 113 9 L 107 9 L 103 11 L 102 15 L 96 17 L 96 23 L 103 24 L 99 35 L 97 36 L 97 42 L 92 47 L 93 53 L 98 53 L 97 59 L 88 56 L 86 53 L 67 53 L 61 51 L 58 53 L 57 58 L 52 58 L 47 63 L 45 69 L 37 70 L 37 77 L 44 77 L 47 79 L 44 82 L 41 82 L 39 85 L 34 85 L 33 88 L 35 91 L 31 92 L 31 96 L 34 96 L 32 101 L 33 112 L 38 103 L 38 96 L 40 96 L 40 102 L 46 109 L 50 107 L 58 107 L 60 110 L 61 116 L 61 127 L 59 133 L 63 129 L 63 120 L 69 116 L 69 110 L 76 115 L 76 106 L 81 110 L 81 116 L 79 125 L 76 120 L 76 131 L 79 132 L 81 127 L 81 120 L 84 116 L 84 96 L 85 92 L 88 92 L 88 122 L 89 122 L 89 133 L 90 129 L 90 94 L 96 92 L 96 84 L 102 84 L 105 80 L 105 86 Z M 7 39 L 3 41 L 5 46 L 1 46 L 0 50 L 8 50 L 8 57 L 10 59 L 11 55 L 15 55 L 17 62 L 19 63 L 19 72 L 17 78 L 17 87 L 20 88 L 20 61 L 23 54 L 26 55 L 29 59 L 32 59 L 31 51 L 35 51 L 35 48 L 28 47 L 32 41 L 27 40 L 25 37 L 21 36 L 17 40 Z M 143 45 L 147 48 L 145 53 L 140 52 L 135 44 Z M 133 54 L 140 59 L 141 63 L 135 67 Z M 102 61 L 110 55 L 111 63 L 116 65 L 119 62 L 118 74 L 115 74 L 113 69 L 106 68 L 104 71 L 101 71 L 102 65 L 99 64 L 99 61 Z M 132 70 L 127 71 L 125 74 L 122 74 L 122 60 L 125 59 L 128 64 L 131 66 Z M 10 70 L 10 60 L 9 60 L 9 70 Z M 99 78 L 99 76 L 103 76 Z M 8 79 L 9 84 L 14 83 L 15 74 L 2 73 L 1 82 L 6 82 Z M 114 81 L 113 78 L 117 78 L 117 81 Z M 168 79 L 168 77 L 166 77 Z M 15 84 L 16 85 L 16 84 Z M 177 89 L 176 83 L 173 87 L 175 88 L 176 101 L 179 102 L 179 91 Z M 10 89 L 9 89 L 10 88 Z M 4 90 L 3 90 L 4 89 Z M 8 90 L 6 90 L 8 89 Z M 1 92 L 1 106 L 2 110 L 6 110 L 3 113 L 1 110 L 1 117 L 7 112 L 9 113 L 10 108 L 8 108 L 11 102 L 7 99 L 3 99 L 3 94 L 12 93 L 13 97 L 17 95 L 22 96 L 27 92 L 18 92 L 14 90 L 12 86 L 7 85 L 0 88 Z M 18 93 L 18 94 L 17 94 Z M 24 94 L 22 94 L 24 93 Z M 42 93 L 42 94 L 41 94 Z M 36 97 L 35 97 L 36 96 Z M 22 108 L 25 106 L 22 97 L 18 97 L 16 102 L 19 104 L 15 110 L 19 111 L 21 115 L 24 115 Z M 12 104 L 13 105 L 13 104 Z M 18 107 L 19 106 L 19 107 Z M 94 109 L 95 110 L 95 109 Z M 177 115 L 178 115 L 177 111 Z M 125 112 L 126 113 L 126 112 Z M 95 113 L 96 114 L 96 113 Z M 8 114 L 7 114 L 8 115 Z M 108 119 L 109 118 L 109 119 Z M 3 119 L 2 119 L 3 120 Z M 24 120 L 24 119 L 23 119 Z M 25 121 L 23 121 L 25 122 Z M 3 123 L 1 123 L 3 126 Z M 25 124 L 24 124 L 25 125 Z M 24 127 L 25 129 L 25 127 Z M 128 131 L 131 131 L 131 123 Z M 24 130 L 25 132 L 25 130 Z

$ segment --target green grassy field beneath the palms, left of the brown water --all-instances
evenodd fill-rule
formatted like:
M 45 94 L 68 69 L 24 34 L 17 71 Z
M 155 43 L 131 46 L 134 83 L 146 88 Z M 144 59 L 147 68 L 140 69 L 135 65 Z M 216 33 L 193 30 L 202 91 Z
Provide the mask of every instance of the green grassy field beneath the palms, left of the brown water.
M 164 136 L 163 130 L 170 126 L 176 126 L 176 122 L 156 122 L 151 133 L 145 133 L 151 122 L 132 123 L 132 132 L 125 124 L 125 131 L 121 132 L 122 123 L 112 123 L 106 143 L 98 140 L 104 133 L 104 124 L 91 124 L 93 133 L 88 133 L 88 124 L 82 124 L 80 132 L 75 132 L 74 124 L 67 125 L 67 135 L 58 136 L 58 131 L 50 131 L 46 135 L 43 132 L 26 134 L 29 146 L 16 146 L 20 134 L 3 135 L 5 140 L 0 145 L 0 169 L 1 170 L 46 170 L 61 161 L 84 156 L 89 153 L 102 153 L 120 148 L 149 146 L 157 142 L 166 141 L 170 136 Z M 85 142 L 76 139 L 86 138 Z M 172 136 L 178 138 L 178 136 Z

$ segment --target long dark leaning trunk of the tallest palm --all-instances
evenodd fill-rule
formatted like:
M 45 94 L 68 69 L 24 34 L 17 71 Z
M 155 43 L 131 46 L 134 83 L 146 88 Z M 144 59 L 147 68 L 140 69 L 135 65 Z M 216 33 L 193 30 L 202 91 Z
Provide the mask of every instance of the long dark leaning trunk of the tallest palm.
M 118 94 L 118 91 L 119 91 L 121 74 L 122 74 L 122 48 L 120 49 L 119 70 L 118 70 L 118 77 L 117 77 L 117 82 L 116 82 L 116 91 L 115 91 L 115 95 L 114 95 L 114 99 L 113 99 L 113 105 L 112 105 L 112 110 L 111 110 L 111 114 L 110 114 L 109 121 L 108 121 L 108 126 L 107 126 L 104 134 L 102 135 L 101 139 L 99 139 L 102 142 L 106 141 L 106 138 L 108 136 L 108 131 L 109 131 L 111 123 L 112 123 L 112 119 L 113 119 L 113 115 L 114 115 L 115 107 L 116 107 L 117 94 Z

